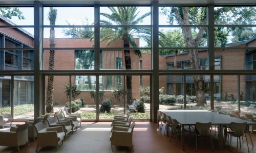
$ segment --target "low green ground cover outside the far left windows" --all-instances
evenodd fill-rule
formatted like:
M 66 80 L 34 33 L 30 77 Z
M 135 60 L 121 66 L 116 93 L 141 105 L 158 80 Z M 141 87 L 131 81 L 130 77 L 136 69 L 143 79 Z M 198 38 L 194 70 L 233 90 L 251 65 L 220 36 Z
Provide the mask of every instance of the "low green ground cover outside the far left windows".
M 14 106 L 14 116 L 34 111 L 34 104 Z M 11 107 L 0 108 L 0 114 L 11 114 Z

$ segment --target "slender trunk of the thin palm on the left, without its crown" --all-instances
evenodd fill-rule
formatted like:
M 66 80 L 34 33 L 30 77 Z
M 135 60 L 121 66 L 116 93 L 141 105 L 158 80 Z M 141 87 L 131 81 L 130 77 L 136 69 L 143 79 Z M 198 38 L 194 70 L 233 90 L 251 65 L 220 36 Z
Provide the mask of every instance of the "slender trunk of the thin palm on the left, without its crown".
M 56 19 L 56 18 L 55 18 Z M 50 21 L 51 23 L 51 21 Z M 50 47 L 55 47 L 55 30 L 54 28 L 50 29 Z M 54 69 L 54 56 L 55 50 L 50 50 L 49 55 L 49 70 Z M 47 95 L 46 95 L 46 112 L 53 113 L 53 75 L 48 76 L 48 85 L 47 85 Z

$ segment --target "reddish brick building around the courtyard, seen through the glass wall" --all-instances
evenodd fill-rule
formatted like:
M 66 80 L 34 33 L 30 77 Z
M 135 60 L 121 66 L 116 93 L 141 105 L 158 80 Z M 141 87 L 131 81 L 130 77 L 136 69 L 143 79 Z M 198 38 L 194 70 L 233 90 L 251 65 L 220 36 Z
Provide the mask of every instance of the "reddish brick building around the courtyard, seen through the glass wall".
M 14 25 L 11 21 L 0 16 L 0 25 Z M 2 70 L 30 70 L 34 68 L 33 56 L 34 50 L 29 50 L 33 47 L 33 36 L 23 29 L 3 28 L 0 30 L 0 40 L 2 48 L 28 48 L 28 50 L 4 50 L 1 52 L 1 69 Z M 139 39 L 136 39 L 139 46 Z M 228 44 L 229 47 L 249 47 L 255 46 L 256 38 Z M 92 63 L 94 52 L 93 50 L 74 50 L 60 49 L 61 47 L 93 47 L 94 42 L 90 38 L 61 38 L 56 39 L 55 50 L 55 69 L 56 70 L 74 70 L 74 69 L 94 69 L 93 64 L 87 68 L 79 66 L 78 59 L 80 56 L 92 54 Z M 100 46 L 106 46 L 106 42 L 101 42 Z M 44 39 L 44 47 L 49 47 L 49 39 Z M 114 41 L 108 47 L 123 47 L 121 39 Z M 255 50 L 246 49 L 222 49 L 215 50 L 215 69 L 255 69 L 256 53 Z M 208 69 L 207 50 L 199 50 L 201 68 Z M 124 53 L 122 50 L 101 50 L 100 51 L 100 68 L 101 69 L 125 69 Z M 49 50 L 44 50 L 44 69 L 48 69 Z M 139 58 L 134 50 L 131 50 L 132 69 L 151 69 L 151 54 L 142 53 Z M 159 56 L 159 69 L 174 69 L 174 55 Z M 177 56 L 177 69 L 190 69 L 190 63 L 187 52 L 179 53 Z M 0 81 L 0 107 L 10 105 L 11 96 L 11 77 L 1 76 Z M 104 98 L 112 98 L 114 103 L 118 103 L 117 99 L 113 98 L 113 90 L 121 90 L 123 88 L 122 75 L 109 75 L 99 77 L 100 90 L 105 91 Z M 14 104 L 33 103 L 33 76 L 23 76 L 14 78 Z M 173 76 L 160 75 L 160 87 L 164 87 L 164 94 L 172 94 Z M 209 98 L 209 82 L 210 77 L 205 75 L 206 97 Z M 246 93 L 246 100 L 256 100 L 255 96 L 255 76 L 241 76 L 240 91 Z M 69 82 L 68 76 L 55 76 L 54 79 L 54 101 L 58 104 L 64 104 L 68 101 L 65 93 L 65 85 Z M 88 103 L 94 103 L 90 91 L 95 90 L 95 76 L 72 76 L 72 82 L 78 85 L 81 94 Z M 194 95 L 193 78 L 186 78 L 188 95 Z M 225 94 L 232 94 L 235 99 L 237 93 L 237 75 L 222 75 L 214 77 L 215 98 L 224 99 Z M 47 85 L 47 78 L 46 78 Z M 149 76 L 133 76 L 133 97 L 139 98 L 140 86 L 150 86 Z M 183 79 L 182 76 L 177 76 L 177 92 L 183 94 Z M 91 102 L 90 102 L 91 101 Z

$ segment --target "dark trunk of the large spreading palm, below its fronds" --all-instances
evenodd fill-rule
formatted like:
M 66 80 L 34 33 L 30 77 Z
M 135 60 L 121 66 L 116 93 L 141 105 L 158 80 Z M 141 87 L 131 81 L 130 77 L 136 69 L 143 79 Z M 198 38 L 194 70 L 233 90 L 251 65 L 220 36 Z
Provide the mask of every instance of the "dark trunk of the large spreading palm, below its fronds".
M 123 47 L 130 47 L 129 40 L 123 39 Z M 125 69 L 132 69 L 131 63 L 131 55 L 130 50 L 124 50 L 124 61 L 125 61 Z M 132 75 L 126 76 L 126 95 L 127 95 L 127 104 L 132 104 L 133 93 L 132 93 L 132 83 L 133 77 Z

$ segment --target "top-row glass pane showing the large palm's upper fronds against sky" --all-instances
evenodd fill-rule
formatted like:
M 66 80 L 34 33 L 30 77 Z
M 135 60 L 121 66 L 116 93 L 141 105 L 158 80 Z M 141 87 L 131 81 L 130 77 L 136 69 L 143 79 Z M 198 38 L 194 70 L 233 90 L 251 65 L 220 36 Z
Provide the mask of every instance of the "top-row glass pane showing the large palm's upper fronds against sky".
M 150 25 L 151 7 L 100 7 L 100 22 L 101 25 Z

